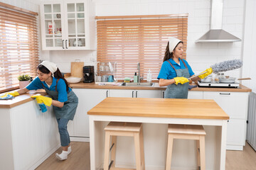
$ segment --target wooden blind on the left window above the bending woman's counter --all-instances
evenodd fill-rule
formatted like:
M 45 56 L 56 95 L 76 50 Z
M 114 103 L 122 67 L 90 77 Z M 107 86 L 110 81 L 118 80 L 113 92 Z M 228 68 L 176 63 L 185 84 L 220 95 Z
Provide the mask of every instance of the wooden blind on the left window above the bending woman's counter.
M 38 65 L 36 15 L 12 8 L 0 4 L 0 91 L 17 88 L 21 74 L 36 77 Z

